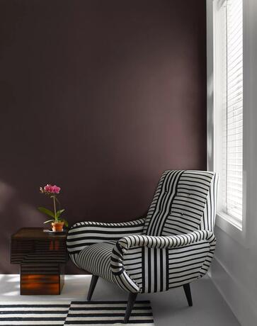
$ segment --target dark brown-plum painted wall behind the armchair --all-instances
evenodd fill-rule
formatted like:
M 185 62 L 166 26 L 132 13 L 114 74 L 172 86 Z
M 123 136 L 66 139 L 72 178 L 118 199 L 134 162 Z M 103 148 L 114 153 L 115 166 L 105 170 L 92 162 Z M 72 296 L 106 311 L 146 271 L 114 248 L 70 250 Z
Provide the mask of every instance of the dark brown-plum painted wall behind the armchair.
M 206 168 L 205 0 L 0 0 L 0 33 L 0 273 L 39 186 L 70 224 L 130 220 L 164 169 Z

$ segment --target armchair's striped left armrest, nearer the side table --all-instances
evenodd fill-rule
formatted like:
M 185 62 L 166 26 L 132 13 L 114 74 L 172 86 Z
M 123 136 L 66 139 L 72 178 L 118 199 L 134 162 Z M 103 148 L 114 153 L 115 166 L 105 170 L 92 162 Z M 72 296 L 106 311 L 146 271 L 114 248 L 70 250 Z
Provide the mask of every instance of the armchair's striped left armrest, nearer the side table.
M 122 223 L 78 222 L 69 230 L 67 249 L 69 254 L 78 254 L 86 246 L 97 242 L 118 241 L 127 235 L 139 235 L 144 228 L 144 218 Z

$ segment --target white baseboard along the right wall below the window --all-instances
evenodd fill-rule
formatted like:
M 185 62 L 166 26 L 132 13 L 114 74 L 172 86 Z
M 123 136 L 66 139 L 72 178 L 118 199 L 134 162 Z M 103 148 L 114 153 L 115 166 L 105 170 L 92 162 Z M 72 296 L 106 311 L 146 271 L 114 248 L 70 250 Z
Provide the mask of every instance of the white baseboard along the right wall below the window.
M 246 288 L 232 276 L 216 257 L 208 273 L 215 287 L 229 305 L 241 326 L 257 325 L 257 300 L 251 298 Z

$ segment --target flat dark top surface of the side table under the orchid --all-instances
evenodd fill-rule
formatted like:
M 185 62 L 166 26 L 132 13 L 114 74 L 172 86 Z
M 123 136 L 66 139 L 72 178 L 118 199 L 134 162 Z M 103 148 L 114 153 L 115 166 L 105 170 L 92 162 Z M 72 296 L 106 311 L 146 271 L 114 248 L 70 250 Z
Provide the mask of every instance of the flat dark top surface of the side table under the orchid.
M 11 238 L 16 240 L 47 240 L 58 238 L 58 239 L 66 239 L 68 231 L 62 233 L 52 233 L 52 232 L 44 232 L 44 227 L 22 227 L 16 233 L 14 233 Z

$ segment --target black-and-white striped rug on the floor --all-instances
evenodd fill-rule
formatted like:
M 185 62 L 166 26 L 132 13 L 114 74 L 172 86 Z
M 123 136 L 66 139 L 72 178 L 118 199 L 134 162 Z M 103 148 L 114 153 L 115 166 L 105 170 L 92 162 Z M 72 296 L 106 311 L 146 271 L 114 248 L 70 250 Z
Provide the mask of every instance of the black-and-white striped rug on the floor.
M 119 325 L 126 301 L 0 303 L 0 325 Z M 124 324 L 122 324 L 124 325 Z M 149 301 L 137 301 L 128 325 L 154 326 Z

